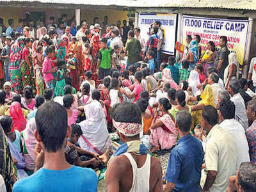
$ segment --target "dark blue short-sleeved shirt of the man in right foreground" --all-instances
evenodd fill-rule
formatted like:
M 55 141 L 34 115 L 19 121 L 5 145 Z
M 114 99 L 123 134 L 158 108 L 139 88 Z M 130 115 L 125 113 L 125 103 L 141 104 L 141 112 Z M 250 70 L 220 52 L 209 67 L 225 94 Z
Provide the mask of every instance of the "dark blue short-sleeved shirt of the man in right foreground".
M 173 191 L 198 192 L 204 150 L 200 140 L 186 135 L 173 148 L 165 179 L 176 184 Z

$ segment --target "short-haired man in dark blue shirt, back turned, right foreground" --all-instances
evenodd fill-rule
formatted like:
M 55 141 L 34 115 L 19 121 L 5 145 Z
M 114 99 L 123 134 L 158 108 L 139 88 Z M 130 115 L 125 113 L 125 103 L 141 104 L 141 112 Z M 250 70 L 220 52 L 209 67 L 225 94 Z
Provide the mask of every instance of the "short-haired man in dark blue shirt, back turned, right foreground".
M 176 127 L 180 139 L 173 148 L 168 162 L 164 191 L 199 191 L 201 167 L 204 159 L 202 142 L 189 133 L 191 115 L 180 111 L 176 115 Z M 192 176 L 192 177 L 191 177 Z

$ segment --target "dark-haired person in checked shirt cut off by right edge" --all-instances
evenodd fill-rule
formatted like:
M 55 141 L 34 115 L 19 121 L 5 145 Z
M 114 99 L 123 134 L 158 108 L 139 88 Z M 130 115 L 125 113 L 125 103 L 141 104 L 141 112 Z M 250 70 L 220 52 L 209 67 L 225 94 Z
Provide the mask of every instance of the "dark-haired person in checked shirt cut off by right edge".
M 249 125 L 245 129 L 246 138 L 249 145 L 250 159 L 253 164 L 256 164 L 256 100 L 252 99 L 248 102 L 246 113 L 249 120 Z

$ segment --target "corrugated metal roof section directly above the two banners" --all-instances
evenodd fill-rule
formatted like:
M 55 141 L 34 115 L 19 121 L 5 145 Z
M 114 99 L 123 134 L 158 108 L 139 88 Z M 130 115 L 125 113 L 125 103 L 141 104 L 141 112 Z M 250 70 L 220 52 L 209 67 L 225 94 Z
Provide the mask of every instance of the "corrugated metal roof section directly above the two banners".
M 143 6 L 141 7 L 226 8 L 237 10 L 256 10 L 256 0 L 157 0 L 156 3 L 150 4 L 143 2 Z

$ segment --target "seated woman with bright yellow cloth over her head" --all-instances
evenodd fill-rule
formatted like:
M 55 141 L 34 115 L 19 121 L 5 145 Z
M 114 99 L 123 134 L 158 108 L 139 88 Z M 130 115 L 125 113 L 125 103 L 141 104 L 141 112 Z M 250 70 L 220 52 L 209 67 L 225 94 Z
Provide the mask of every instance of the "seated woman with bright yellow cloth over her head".
M 201 124 L 201 116 L 202 116 L 202 109 L 204 106 L 211 105 L 215 108 L 213 99 L 213 93 L 212 93 L 212 88 L 211 85 L 207 84 L 203 90 L 201 90 L 201 95 L 198 95 L 197 97 L 189 97 L 189 101 L 199 101 L 196 106 L 191 106 L 191 111 L 192 111 L 192 124 L 191 124 L 191 129 L 194 129 L 194 127 L 197 124 Z

